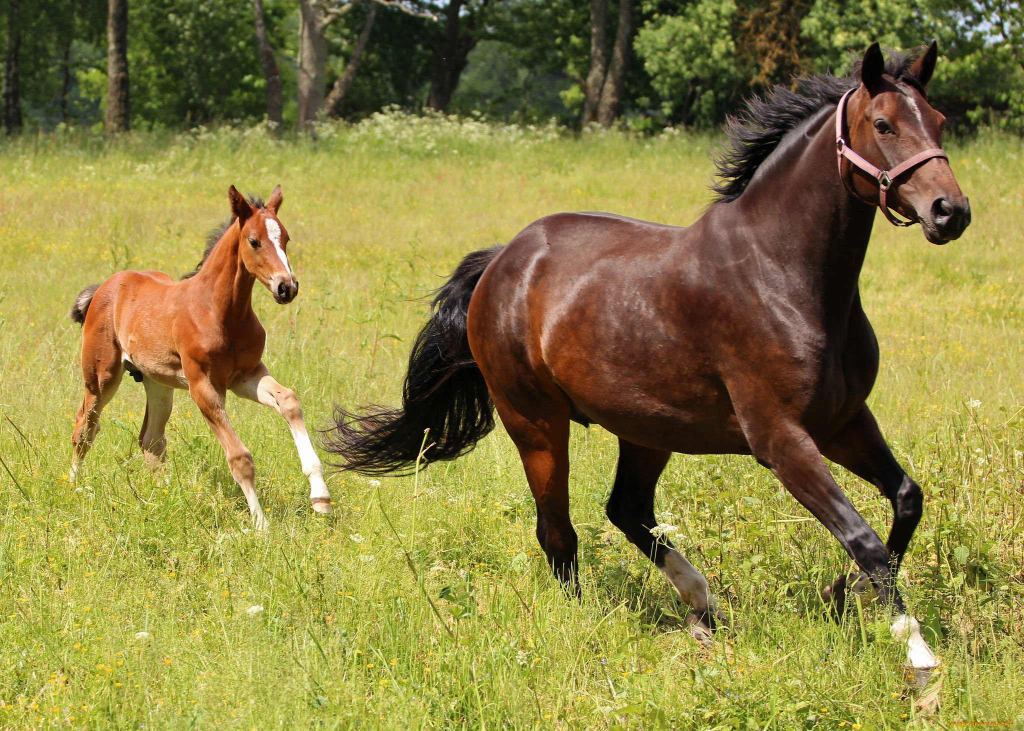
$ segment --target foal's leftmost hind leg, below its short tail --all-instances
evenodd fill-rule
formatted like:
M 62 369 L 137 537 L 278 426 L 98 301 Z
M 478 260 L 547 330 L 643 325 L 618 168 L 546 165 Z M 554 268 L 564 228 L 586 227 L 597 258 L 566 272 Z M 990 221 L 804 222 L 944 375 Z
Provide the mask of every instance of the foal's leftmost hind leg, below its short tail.
M 97 342 L 98 341 L 98 342 Z M 68 480 L 74 482 L 93 439 L 99 433 L 99 415 L 121 386 L 124 363 L 121 351 L 113 340 L 86 337 L 82 343 L 82 377 L 85 396 L 75 417 L 72 433 L 72 460 Z

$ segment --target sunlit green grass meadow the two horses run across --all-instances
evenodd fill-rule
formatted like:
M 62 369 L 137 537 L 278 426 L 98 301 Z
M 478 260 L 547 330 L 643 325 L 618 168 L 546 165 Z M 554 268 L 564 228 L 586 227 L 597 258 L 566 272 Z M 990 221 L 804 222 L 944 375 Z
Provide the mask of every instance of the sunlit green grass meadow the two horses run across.
M 323 426 L 335 402 L 396 399 L 418 298 L 462 255 L 563 210 L 691 222 L 713 142 L 393 116 L 326 128 L 315 144 L 256 130 L 0 147 L 0 726 L 1024 727 L 1016 138 L 950 142 L 974 224 L 939 248 L 879 219 L 861 280 L 882 346 L 871 406 L 926 494 L 900 586 L 944 662 L 937 714 L 916 709 L 882 610 L 822 618 L 816 592 L 848 560 L 749 458 L 677 456 L 658 490 L 662 519 L 733 616 L 710 654 L 604 517 L 616 448 L 598 427 L 573 426 L 570 447 L 582 601 L 549 577 L 501 428 L 418 478 L 333 474 L 324 518 L 284 421 L 230 396 L 271 521 L 255 535 L 186 393 L 166 466 L 144 467 L 144 397 L 126 379 L 67 482 L 73 298 L 118 269 L 194 266 L 229 184 L 284 186 L 301 292 L 279 306 L 259 289 L 254 305 L 271 373 Z M 884 535 L 888 504 L 836 473 Z

